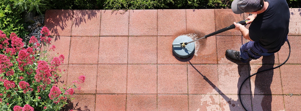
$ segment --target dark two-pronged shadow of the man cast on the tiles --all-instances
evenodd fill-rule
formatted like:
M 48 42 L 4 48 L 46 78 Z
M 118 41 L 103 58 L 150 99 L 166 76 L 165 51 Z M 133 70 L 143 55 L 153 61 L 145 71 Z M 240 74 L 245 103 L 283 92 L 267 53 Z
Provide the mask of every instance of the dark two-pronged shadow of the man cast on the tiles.
M 270 56 L 262 56 L 262 66 L 257 70 L 257 72 L 273 68 L 275 64 L 275 55 L 272 54 Z M 241 86 L 241 83 L 246 79 L 245 75 L 246 71 L 240 71 L 243 69 L 244 64 L 238 64 L 238 73 L 240 75 L 237 88 L 239 89 Z M 250 64 L 248 64 L 249 74 L 251 73 L 251 67 Z M 247 100 L 250 100 L 245 95 L 242 95 L 247 92 L 247 90 L 244 90 L 247 88 L 247 86 L 250 86 L 250 79 L 247 80 L 244 85 L 242 85 L 241 90 L 241 100 L 244 105 L 244 107 L 247 108 L 247 106 L 252 106 L 252 109 L 254 111 L 271 111 L 272 110 L 272 91 L 271 91 L 271 84 L 274 76 L 274 70 L 268 70 L 264 72 L 257 73 L 255 75 L 255 81 L 254 81 L 254 94 L 252 94 L 251 91 L 251 102 L 247 102 Z M 252 77 L 251 77 L 252 78 Z M 252 88 L 250 88 L 251 90 Z M 237 91 L 237 94 L 239 94 L 239 90 Z M 239 95 L 238 95 L 239 98 Z M 248 108 L 247 108 L 248 109 Z

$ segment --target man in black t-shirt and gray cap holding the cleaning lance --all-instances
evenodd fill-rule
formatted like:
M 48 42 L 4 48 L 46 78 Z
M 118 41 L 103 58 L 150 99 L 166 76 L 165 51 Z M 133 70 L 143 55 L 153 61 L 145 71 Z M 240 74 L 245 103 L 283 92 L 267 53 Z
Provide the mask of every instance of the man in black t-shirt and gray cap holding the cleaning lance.
M 242 45 L 240 51 L 227 50 L 227 57 L 247 63 L 280 50 L 287 40 L 290 21 L 286 0 L 234 0 L 231 8 L 235 14 L 253 15 L 247 17 L 249 29 L 234 22 L 235 30 L 250 42 Z

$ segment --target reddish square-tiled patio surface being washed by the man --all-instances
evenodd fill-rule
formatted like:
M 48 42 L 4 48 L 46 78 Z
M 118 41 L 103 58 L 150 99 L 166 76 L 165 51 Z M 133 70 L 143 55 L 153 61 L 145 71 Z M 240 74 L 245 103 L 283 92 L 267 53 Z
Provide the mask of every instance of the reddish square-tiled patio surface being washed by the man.
M 290 58 L 244 83 L 241 99 L 248 110 L 301 108 L 301 11 L 290 12 Z M 225 57 L 227 49 L 248 42 L 234 29 L 195 42 L 195 54 L 185 59 L 172 53 L 172 42 L 179 35 L 203 37 L 245 18 L 231 9 L 48 10 L 45 26 L 56 46 L 49 58 L 65 56 L 58 85 L 86 76 L 69 105 L 73 111 L 242 111 L 241 83 L 283 63 L 287 43 L 275 55 L 246 64 Z

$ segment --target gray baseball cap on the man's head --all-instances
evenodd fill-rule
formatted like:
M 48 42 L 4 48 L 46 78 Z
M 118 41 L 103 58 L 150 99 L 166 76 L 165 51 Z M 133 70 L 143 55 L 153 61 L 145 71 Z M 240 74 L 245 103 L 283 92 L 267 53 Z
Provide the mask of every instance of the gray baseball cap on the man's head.
M 235 14 L 258 11 L 261 7 L 260 0 L 234 0 L 231 4 Z

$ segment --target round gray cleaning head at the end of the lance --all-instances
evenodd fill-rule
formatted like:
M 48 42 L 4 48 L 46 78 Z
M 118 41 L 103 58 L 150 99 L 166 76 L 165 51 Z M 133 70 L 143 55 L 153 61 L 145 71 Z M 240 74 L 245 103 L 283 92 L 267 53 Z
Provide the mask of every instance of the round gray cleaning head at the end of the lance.
M 175 38 L 172 42 L 172 52 L 175 53 L 176 56 L 181 58 L 190 57 L 194 54 L 194 42 L 191 42 L 192 39 L 186 35 L 181 35 Z M 187 45 L 182 45 L 183 42 L 191 42 Z

